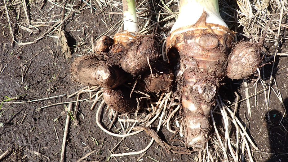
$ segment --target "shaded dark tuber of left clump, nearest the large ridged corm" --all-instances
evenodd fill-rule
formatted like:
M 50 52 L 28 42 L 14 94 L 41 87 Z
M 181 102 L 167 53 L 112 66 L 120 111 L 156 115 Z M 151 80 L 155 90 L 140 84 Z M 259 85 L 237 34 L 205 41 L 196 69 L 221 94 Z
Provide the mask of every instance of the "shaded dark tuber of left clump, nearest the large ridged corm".
M 139 86 L 147 92 L 158 93 L 160 91 L 169 92 L 174 82 L 174 75 L 165 62 L 157 62 L 156 67 L 146 71 L 139 80 Z

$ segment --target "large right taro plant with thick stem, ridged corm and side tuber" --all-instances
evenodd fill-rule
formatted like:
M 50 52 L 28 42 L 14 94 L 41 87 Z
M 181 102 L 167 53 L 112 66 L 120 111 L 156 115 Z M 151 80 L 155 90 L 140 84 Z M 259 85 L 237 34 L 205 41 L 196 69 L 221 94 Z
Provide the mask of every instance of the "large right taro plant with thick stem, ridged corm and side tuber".
M 243 79 L 255 72 L 267 27 L 259 43 L 233 44 L 234 32 L 221 18 L 218 1 L 180 1 L 179 17 L 167 37 L 166 52 L 177 81 L 187 147 L 205 148 L 209 116 L 221 81 L 226 76 Z

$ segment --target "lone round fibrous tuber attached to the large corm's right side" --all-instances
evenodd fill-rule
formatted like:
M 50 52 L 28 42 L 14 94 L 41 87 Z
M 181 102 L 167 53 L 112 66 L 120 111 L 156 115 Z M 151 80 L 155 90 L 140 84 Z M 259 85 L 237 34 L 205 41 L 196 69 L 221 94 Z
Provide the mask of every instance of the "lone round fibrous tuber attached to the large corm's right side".
M 238 42 L 228 58 L 227 76 L 231 79 L 244 79 L 255 72 L 260 61 L 258 44 Z

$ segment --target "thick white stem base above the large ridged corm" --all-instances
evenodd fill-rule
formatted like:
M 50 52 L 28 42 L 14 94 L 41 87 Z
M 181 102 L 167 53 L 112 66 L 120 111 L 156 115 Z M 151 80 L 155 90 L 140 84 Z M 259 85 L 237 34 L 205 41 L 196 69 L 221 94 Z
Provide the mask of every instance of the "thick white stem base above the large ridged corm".
M 193 25 L 206 11 L 206 23 L 228 27 L 220 16 L 218 0 L 180 0 L 179 16 L 171 32 L 177 28 Z

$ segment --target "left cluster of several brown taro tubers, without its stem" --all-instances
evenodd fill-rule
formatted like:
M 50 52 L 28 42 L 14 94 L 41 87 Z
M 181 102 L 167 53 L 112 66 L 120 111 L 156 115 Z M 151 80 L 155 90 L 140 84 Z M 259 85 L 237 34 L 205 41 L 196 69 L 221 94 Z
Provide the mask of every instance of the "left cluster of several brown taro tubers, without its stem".
M 71 65 L 75 81 L 104 88 L 104 100 L 115 111 L 127 113 L 135 110 L 136 96 L 122 84 L 127 80 L 148 92 L 169 91 L 173 73 L 166 62 L 157 62 L 159 50 L 153 35 L 135 35 L 123 31 L 113 38 L 103 36 L 95 45 L 95 54 L 76 58 Z M 113 42 L 107 46 L 104 42 Z M 108 51 L 108 52 L 104 52 Z M 150 69 L 151 68 L 151 69 Z M 153 75 L 149 75 L 151 74 Z M 143 74 L 144 80 L 136 79 Z M 139 79 L 138 79 L 139 80 Z M 139 89 L 139 88 L 138 88 Z

